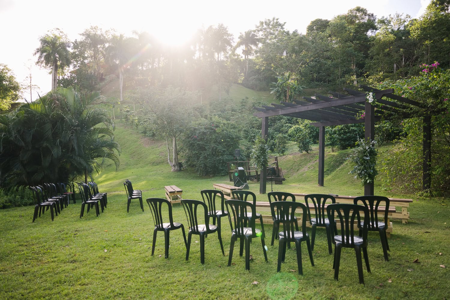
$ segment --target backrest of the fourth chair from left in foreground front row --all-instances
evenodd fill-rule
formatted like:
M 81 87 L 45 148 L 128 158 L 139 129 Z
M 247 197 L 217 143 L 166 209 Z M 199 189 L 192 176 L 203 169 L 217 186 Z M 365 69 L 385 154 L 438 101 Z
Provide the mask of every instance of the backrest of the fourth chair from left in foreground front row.
M 293 240 L 295 231 L 295 214 L 297 208 L 302 210 L 302 215 L 306 216 L 306 205 L 300 202 L 293 201 L 274 201 L 270 203 L 270 211 L 272 218 L 277 219 L 283 223 L 284 237 L 288 240 Z M 297 211 L 297 213 L 300 213 Z M 302 217 L 301 231 L 303 236 L 306 236 L 306 218 Z M 278 234 L 278 233 L 277 233 Z

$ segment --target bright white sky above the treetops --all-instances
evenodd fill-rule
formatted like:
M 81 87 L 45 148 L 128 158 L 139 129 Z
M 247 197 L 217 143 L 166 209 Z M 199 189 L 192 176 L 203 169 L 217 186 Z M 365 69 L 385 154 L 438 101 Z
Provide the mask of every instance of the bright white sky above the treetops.
M 289 31 L 306 32 L 316 19 L 332 19 L 356 6 L 377 18 L 405 13 L 419 18 L 430 0 L 0 0 L 0 63 L 6 64 L 19 83 L 31 72 L 39 94 L 51 89 L 49 70 L 36 66 L 33 53 L 39 37 L 59 28 L 69 40 L 90 26 L 133 36 L 147 31 L 166 45 L 183 44 L 201 27 L 223 23 L 234 35 L 254 29 L 266 18 L 279 18 Z M 30 100 L 30 94 L 24 94 Z M 35 100 L 37 94 L 32 95 Z

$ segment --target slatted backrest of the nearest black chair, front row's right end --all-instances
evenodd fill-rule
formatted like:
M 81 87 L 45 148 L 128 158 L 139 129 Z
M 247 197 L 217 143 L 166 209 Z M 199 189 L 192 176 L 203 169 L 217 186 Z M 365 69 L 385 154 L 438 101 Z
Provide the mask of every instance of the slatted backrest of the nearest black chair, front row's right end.
M 365 206 L 355 204 L 343 204 L 335 203 L 327 206 L 328 219 L 330 220 L 331 228 L 333 228 L 335 235 L 340 235 L 342 239 L 342 246 L 353 247 L 355 244 L 355 225 L 357 226 L 357 233 L 362 232 L 363 244 L 367 245 L 367 222 L 363 222 L 362 219 L 369 215 L 369 211 Z M 335 215 L 338 217 L 335 220 Z M 336 226 L 336 222 L 340 224 L 340 229 Z M 334 235 L 332 234 L 332 240 L 334 241 Z

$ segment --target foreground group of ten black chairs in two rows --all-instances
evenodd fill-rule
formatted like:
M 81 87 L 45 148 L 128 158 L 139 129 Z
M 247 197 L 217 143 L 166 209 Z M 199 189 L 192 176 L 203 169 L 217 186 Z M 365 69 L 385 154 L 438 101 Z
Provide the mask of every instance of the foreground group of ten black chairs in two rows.
M 178 228 L 182 228 L 183 230 L 184 242 L 186 244 L 187 250 L 186 260 L 188 260 L 189 258 L 191 240 L 190 236 L 192 234 L 200 235 L 200 252 L 202 263 L 204 263 L 204 237 L 206 237 L 208 233 L 218 232 L 222 254 L 225 255 L 220 233 L 220 219 L 223 216 L 228 216 L 230 227 L 232 230 L 229 252 L 229 265 L 231 265 L 233 256 L 234 242 L 238 238 L 240 239 L 239 254 L 241 256 L 243 255 L 243 246 L 245 243 L 246 269 L 250 269 L 249 245 L 252 238 L 261 237 L 263 252 L 267 260 L 266 247 L 264 242 L 264 226 L 262 223 L 261 215 L 256 213 L 256 196 L 254 195 L 254 193 L 250 191 L 234 191 L 232 193 L 232 197 L 234 197 L 235 199 L 226 201 L 223 197 L 223 193 L 218 190 L 202 190 L 201 195 L 203 202 L 197 200 L 181 201 L 189 223 L 188 241 L 186 241 L 183 224 L 174 223 L 172 220 L 170 201 L 162 198 L 147 199 L 147 203 L 152 212 L 155 224 L 153 233 L 152 255 L 154 254 L 157 231 L 164 231 L 165 233 L 165 257 L 167 258 L 169 251 L 169 232 Z M 220 198 L 220 210 L 216 209 L 217 197 Z M 330 254 L 332 253 L 331 243 L 335 245 L 333 269 L 335 269 L 336 280 L 338 279 L 339 273 L 341 249 L 342 247 L 351 247 L 356 251 L 360 283 L 364 283 L 362 275 L 361 250 L 364 253 L 366 268 L 368 272 L 370 272 L 369 260 L 367 256 L 367 231 L 378 231 L 380 233 L 380 238 L 383 246 L 383 254 L 385 256 L 385 260 L 388 260 L 387 250 L 389 250 L 389 246 L 387 244 L 386 238 L 387 208 L 389 207 L 388 198 L 378 196 L 361 196 L 355 198 L 355 204 L 337 204 L 333 196 L 323 194 L 310 194 L 305 196 L 306 203 L 304 204 L 301 202 L 295 202 L 295 196 L 291 193 L 271 192 L 269 193 L 268 197 L 270 201 L 272 219 L 274 220 L 272 245 L 275 237 L 278 237 L 280 239 L 277 271 L 280 271 L 281 269 L 281 262 L 284 261 L 286 248 L 288 245 L 290 245 L 291 242 L 294 242 L 296 244 L 298 272 L 302 274 L 302 241 L 306 242 L 311 265 L 314 266 L 312 251 L 314 249 L 315 229 L 318 226 L 326 228 Z M 252 201 L 249 202 L 247 200 Z M 331 203 L 326 203 L 327 201 L 331 201 Z M 167 223 L 164 223 L 162 219 L 162 203 L 166 203 L 169 207 L 169 222 Z M 311 218 L 311 209 L 308 203 L 311 203 L 311 206 L 314 207 L 314 218 Z M 384 209 L 384 222 L 378 221 L 378 209 L 381 208 L 380 203 L 383 203 L 386 207 Z M 202 209 L 198 210 L 200 206 L 202 206 Z M 202 210 L 204 210 L 205 212 L 205 224 L 199 224 L 197 219 L 197 212 L 199 211 L 198 213 L 202 215 Z M 303 216 L 308 216 L 308 219 L 310 219 L 312 225 L 311 242 L 309 234 L 306 232 L 306 217 L 302 218 L 301 230 L 299 230 L 296 213 L 301 213 Z M 338 234 L 335 216 L 338 217 L 340 234 Z M 209 224 L 210 218 L 212 218 L 213 224 Z M 261 221 L 261 230 L 255 228 L 255 220 L 257 219 Z M 282 232 L 278 232 L 279 224 L 283 224 Z M 358 234 L 354 232 L 354 226 L 356 226 L 356 228 L 359 228 Z

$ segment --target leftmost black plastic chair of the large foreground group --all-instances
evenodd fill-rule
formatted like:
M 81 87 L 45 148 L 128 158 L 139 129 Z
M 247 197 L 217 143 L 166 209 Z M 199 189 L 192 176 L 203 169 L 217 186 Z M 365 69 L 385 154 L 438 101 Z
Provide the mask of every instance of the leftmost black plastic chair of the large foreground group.
M 155 229 L 153 230 L 153 246 L 152 246 L 152 255 L 155 253 L 155 245 L 156 245 L 156 233 L 158 231 L 164 232 L 164 240 L 165 240 L 165 258 L 169 257 L 169 236 L 171 230 L 179 229 L 183 231 L 184 237 L 184 245 L 186 246 L 188 243 L 186 242 L 186 234 L 184 233 L 184 226 L 181 223 L 176 223 L 173 221 L 172 217 L 172 205 L 171 203 L 162 198 L 147 198 L 148 207 L 150 207 L 150 212 L 152 213 L 153 223 L 155 224 Z M 169 222 L 164 222 L 164 218 L 162 216 L 162 207 L 163 204 L 167 205 L 167 212 L 169 217 Z

